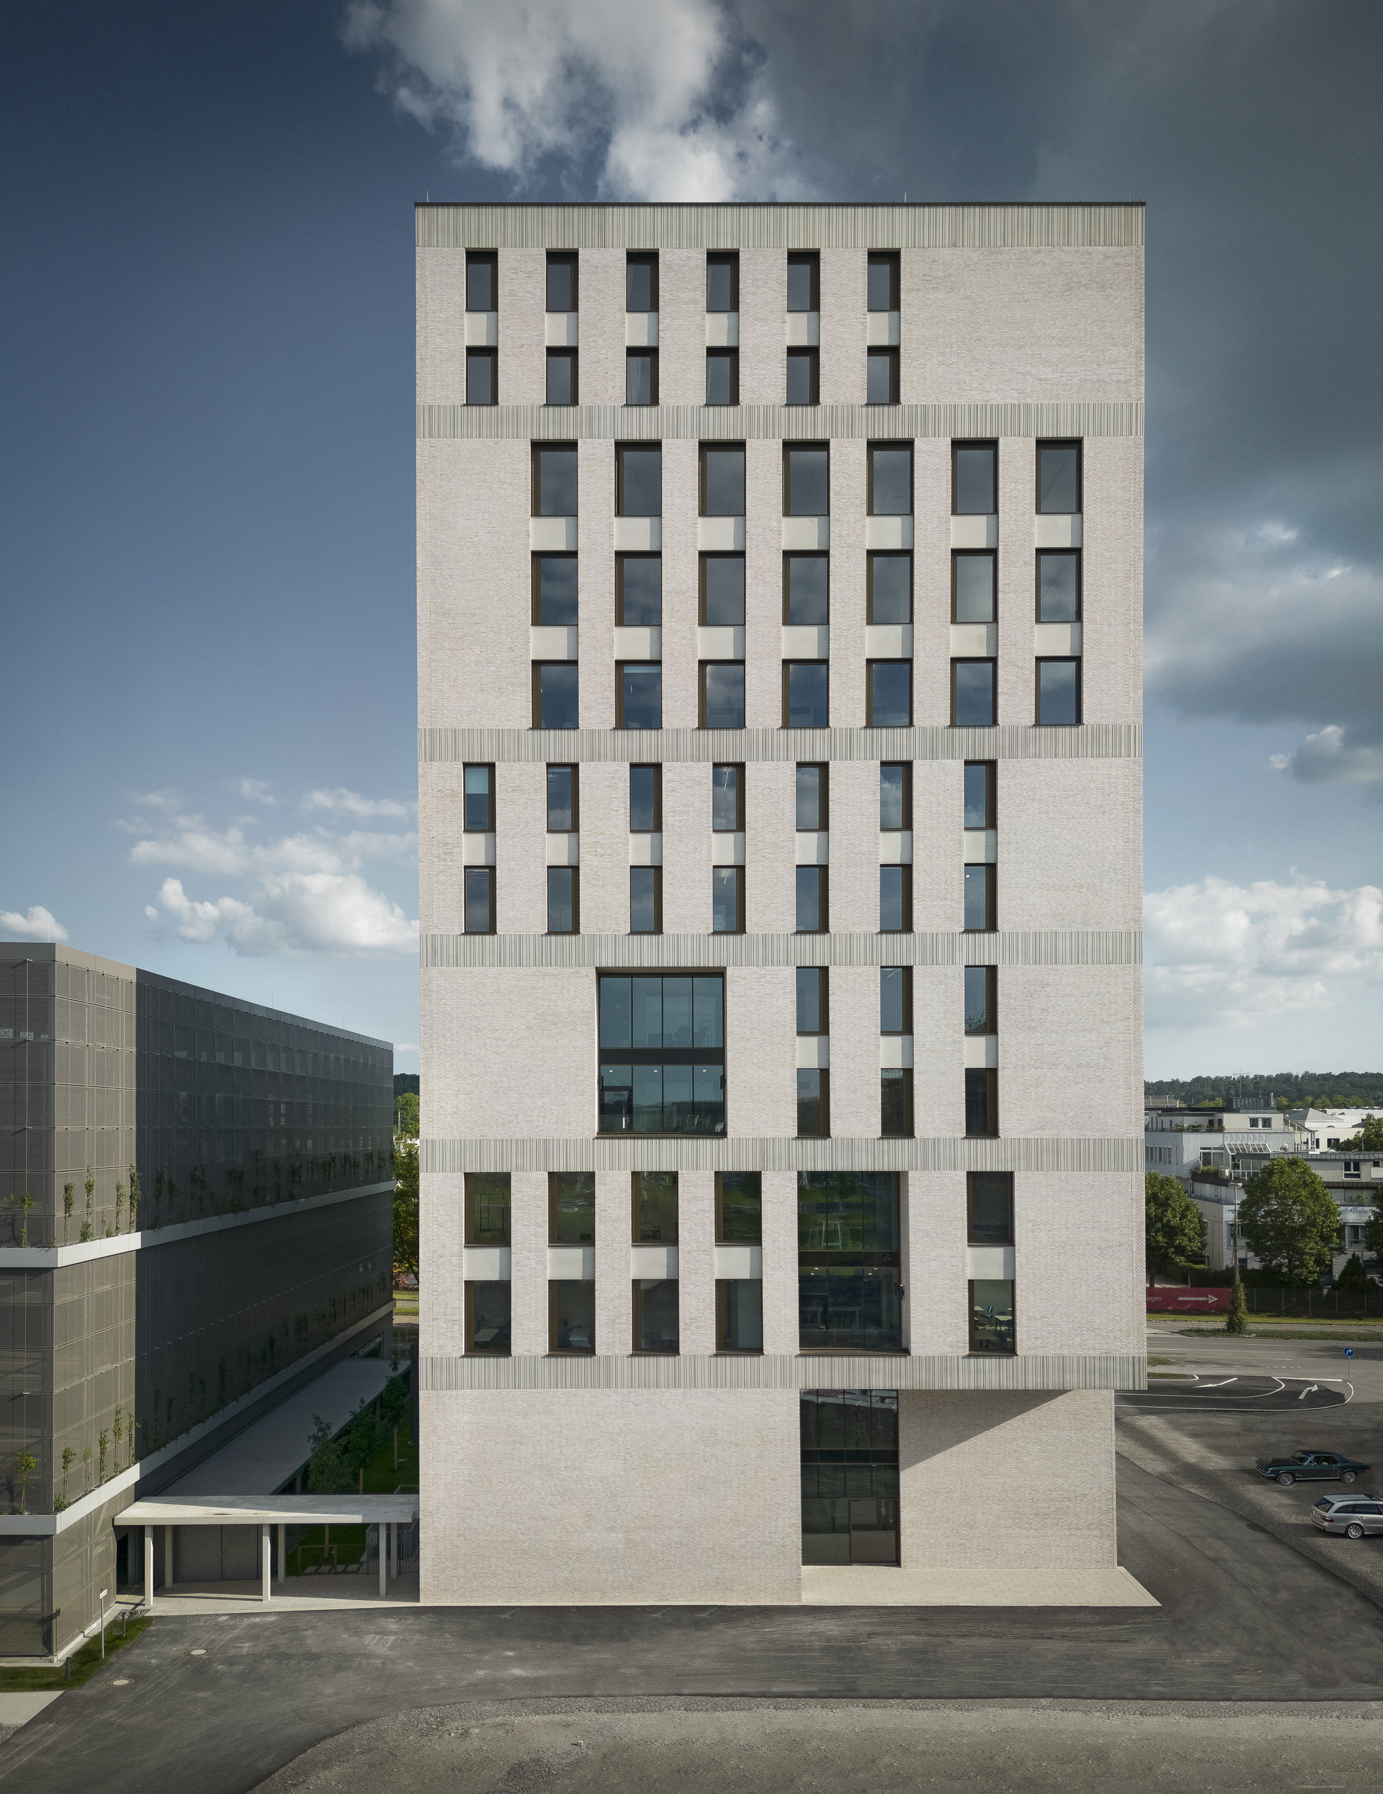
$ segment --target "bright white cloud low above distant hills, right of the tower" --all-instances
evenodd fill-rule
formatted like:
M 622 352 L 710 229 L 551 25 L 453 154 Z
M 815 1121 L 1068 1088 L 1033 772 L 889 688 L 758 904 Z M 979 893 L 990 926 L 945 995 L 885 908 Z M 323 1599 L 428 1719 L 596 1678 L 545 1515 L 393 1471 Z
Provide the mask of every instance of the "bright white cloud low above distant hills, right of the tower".
M 1148 892 L 1150 1026 L 1250 1026 L 1383 978 L 1383 890 L 1202 879 Z

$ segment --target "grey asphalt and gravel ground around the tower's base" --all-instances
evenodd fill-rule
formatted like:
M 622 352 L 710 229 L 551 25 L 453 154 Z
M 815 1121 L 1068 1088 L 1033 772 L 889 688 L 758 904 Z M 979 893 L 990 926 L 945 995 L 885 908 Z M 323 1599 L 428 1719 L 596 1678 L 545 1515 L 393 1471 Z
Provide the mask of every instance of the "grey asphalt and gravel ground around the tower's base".
M 1290 1405 L 1327 1367 L 1297 1342 L 1150 1349 L 1288 1390 L 1119 1405 L 1119 1557 L 1159 1609 L 170 1618 L 14 1733 L 0 1787 L 1361 1785 L 1383 1769 L 1383 1539 L 1318 1537 L 1318 1487 L 1250 1466 L 1318 1444 L 1383 1467 L 1383 1369 L 1344 1401 Z

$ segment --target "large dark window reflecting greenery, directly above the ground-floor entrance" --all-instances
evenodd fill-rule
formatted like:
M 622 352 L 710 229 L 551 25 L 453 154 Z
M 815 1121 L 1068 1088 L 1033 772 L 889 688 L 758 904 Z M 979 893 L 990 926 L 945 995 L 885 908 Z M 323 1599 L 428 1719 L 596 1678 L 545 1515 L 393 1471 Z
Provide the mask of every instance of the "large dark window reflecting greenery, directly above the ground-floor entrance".
M 802 1351 L 900 1351 L 899 1177 L 798 1171 Z

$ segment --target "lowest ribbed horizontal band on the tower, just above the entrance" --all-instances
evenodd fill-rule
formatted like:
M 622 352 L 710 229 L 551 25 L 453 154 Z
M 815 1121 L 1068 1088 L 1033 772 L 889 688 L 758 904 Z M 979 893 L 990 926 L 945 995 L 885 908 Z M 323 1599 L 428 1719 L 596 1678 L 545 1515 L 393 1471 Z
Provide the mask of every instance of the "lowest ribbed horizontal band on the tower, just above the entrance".
M 969 1358 L 947 1353 L 874 1356 L 565 1358 L 425 1356 L 423 1394 L 540 1389 L 935 1389 L 1033 1394 L 1069 1389 L 1148 1387 L 1141 1353 L 1019 1353 Z

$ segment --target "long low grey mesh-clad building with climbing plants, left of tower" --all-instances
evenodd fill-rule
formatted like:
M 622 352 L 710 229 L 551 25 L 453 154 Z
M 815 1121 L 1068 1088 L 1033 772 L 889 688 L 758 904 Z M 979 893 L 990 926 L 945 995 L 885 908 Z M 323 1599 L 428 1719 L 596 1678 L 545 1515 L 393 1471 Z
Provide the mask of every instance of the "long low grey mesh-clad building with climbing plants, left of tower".
M 387 1329 L 393 1048 L 5 942 L 0 1067 L 0 1656 L 48 1656 L 142 1581 L 118 1511 Z

